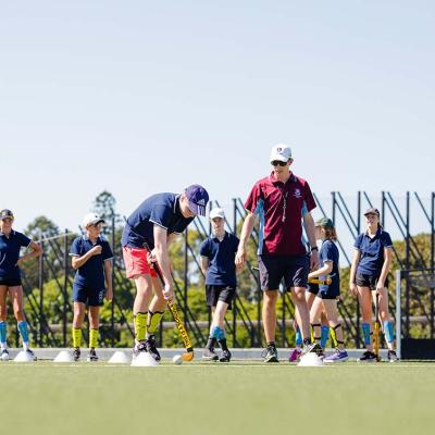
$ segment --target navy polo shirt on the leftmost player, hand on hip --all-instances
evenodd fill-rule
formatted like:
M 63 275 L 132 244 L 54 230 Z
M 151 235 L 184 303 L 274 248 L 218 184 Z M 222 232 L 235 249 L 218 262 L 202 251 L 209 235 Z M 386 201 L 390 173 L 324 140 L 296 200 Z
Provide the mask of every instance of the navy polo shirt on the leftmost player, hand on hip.
M 21 278 L 16 265 L 21 248 L 27 248 L 32 240 L 22 233 L 11 231 L 9 237 L 0 233 L 0 281 Z

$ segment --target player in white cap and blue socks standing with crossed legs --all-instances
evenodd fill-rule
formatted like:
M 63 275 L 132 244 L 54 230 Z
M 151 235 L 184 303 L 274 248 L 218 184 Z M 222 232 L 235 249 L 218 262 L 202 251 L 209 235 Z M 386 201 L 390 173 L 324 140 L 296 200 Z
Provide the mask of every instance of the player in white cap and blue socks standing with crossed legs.
M 238 238 L 224 228 L 225 214 L 220 208 L 210 211 L 212 235 L 202 241 L 200 248 L 201 270 L 206 275 L 207 304 L 211 307 L 213 321 L 210 326 L 210 337 L 202 359 L 208 361 L 229 362 L 231 352 L 226 345 L 224 318 L 227 309 L 232 309 L 232 301 L 236 293 L 235 258 L 238 248 Z M 214 352 L 219 344 L 221 355 Z

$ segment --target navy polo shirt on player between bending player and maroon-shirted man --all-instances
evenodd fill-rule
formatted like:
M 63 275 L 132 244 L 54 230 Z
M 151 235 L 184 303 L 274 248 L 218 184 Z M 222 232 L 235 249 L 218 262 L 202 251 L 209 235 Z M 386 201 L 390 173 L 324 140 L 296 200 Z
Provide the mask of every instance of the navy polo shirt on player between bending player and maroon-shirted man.
M 209 236 L 200 247 L 201 257 L 209 259 L 209 269 L 206 273 L 207 285 L 227 285 L 236 287 L 236 265 L 234 260 L 238 248 L 238 238 L 226 233 L 222 241 Z

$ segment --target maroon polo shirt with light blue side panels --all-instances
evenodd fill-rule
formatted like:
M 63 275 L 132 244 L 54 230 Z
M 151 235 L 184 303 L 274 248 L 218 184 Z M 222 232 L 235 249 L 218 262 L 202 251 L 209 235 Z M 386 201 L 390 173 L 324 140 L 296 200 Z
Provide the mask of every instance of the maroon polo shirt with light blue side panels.
M 302 215 L 315 208 L 308 183 L 290 174 L 286 183 L 272 173 L 256 183 L 245 208 L 260 217 L 259 254 L 303 256 Z

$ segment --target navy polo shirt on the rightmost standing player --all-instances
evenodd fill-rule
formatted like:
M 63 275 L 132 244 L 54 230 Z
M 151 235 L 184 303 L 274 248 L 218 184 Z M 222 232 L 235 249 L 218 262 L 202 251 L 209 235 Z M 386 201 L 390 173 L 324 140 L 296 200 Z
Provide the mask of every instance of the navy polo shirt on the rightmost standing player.
M 377 229 L 373 238 L 369 237 L 368 233 L 360 234 L 353 246 L 361 252 L 357 273 L 378 275 L 384 264 L 384 249 L 391 248 L 393 241 L 387 232 Z

